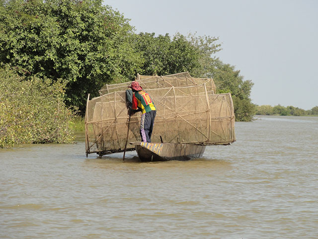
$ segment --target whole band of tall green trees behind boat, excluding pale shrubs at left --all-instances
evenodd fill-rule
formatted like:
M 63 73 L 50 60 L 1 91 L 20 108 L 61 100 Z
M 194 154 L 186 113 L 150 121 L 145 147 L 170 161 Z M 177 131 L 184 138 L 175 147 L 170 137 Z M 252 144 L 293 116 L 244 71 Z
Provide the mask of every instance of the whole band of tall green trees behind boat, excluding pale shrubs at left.
M 215 56 L 217 40 L 135 33 L 129 19 L 102 0 L 0 0 L 0 68 L 9 66 L 26 81 L 62 82 L 66 107 L 82 114 L 88 93 L 97 96 L 104 84 L 130 81 L 137 73 L 188 71 L 213 78 L 217 93 L 232 93 L 236 119 L 251 120 L 253 83 Z

